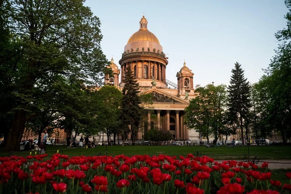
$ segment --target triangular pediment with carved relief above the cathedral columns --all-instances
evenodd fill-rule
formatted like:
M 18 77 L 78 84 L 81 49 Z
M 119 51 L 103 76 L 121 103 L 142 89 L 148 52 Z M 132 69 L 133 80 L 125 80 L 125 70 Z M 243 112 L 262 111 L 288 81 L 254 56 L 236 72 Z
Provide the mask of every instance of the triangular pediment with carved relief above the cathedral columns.
M 175 95 L 169 94 L 169 93 L 164 92 L 164 91 L 157 89 L 157 88 L 142 91 L 140 94 L 152 94 L 153 102 L 170 102 L 170 103 L 187 103 L 187 104 L 189 104 L 189 101 L 181 99 Z

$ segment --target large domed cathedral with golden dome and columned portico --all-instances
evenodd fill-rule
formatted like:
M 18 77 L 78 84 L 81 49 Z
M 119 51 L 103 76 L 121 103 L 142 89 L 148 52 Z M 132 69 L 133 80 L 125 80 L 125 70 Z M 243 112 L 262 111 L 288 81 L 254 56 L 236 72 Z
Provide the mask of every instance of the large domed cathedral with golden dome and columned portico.
M 169 130 L 173 139 L 190 139 L 199 142 L 199 133 L 187 129 L 183 124 L 184 109 L 189 105 L 189 100 L 195 98 L 194 73 L 184 62 L 176 74 L 177 83 L 166 79 L 168 60 L 158 38 L 148 30 L 145 16 L 142 16 L 139 21 L 139 30 L 125 45 L 119 65 L 120 69 L 113 62 L 113 58 L 111 59 L 111 65 L 108 67 L 112 69 L 114 77 L 105 78 L 105 84 L 122 89 L 125 69 L 130 65 L 134 78 L 139 83 L 140 94 L 150 93 L 153 96 L 151 111 L 148 112 L 145 122 L 137 133 L 137 140 L 142 139 L 145 130 L 156 127 Z M 151 114 L 157 116 L 152 118 Z M 130 134 L 127 139 L 131 139 Z

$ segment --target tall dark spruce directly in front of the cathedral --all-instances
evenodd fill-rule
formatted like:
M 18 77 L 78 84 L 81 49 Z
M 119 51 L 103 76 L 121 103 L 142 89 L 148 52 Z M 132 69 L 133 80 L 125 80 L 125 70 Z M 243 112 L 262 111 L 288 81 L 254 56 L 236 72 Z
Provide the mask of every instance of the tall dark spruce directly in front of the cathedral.
M 142 120 L 141 99 L 138 95 L 139 83 L 133 78 L 130 65 L 126 67 L 124 83 L 120 111 L 121 128 L 124 134 L 122 146 L 124 145 L 125 135 L 130 132 L 132 142 L 134 142 L 135 134 L 139 131 L 139 123 Z

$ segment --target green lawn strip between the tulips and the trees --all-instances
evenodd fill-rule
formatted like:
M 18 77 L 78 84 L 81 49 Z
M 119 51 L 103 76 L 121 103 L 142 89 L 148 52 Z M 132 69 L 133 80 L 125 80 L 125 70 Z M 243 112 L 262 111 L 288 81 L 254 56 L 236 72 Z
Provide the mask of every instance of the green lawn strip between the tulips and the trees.
M 47 154 L 51 156 L 59 150 L 60 154 L 68 156 L 94 156 L 99 152 L 105 154 L 105 146 L 97 146 L 97 148 L 67 148 L 66 146 L 47 146 Z M 243 159 L 243 154 L 248 154 L 247 146 L 236 146 L 235 148 L 228 148 L 226 146 L 219 146 L 214 148 L 206 148 L 205 146 L 107 146 L 108 155 L 115 156 L 124 154 L 126 156 L 133 155 L 187 155 L 188 153 L 196 153 L 197 150 L 201 152 L 202 156 L 207 155 L 214 159 Z M 14 152 L 14 155 L 29 155 L 29 152 Z M 35 152 L 32 152 L 34 155 Z M 39 154 L 39 152 L 37 152 Z M 279 146 L 250 146 L 249 154 L 258 156 L 259 159 L 291 159 L 290 147 Z M 0 148 L 0 156 L 7 156 L 4 148 Z

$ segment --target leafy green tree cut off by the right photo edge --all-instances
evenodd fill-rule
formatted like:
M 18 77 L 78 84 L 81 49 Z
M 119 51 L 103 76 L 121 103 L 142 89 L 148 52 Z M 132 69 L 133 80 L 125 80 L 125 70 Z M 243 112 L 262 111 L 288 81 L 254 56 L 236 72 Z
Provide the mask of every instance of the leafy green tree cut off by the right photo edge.
M 285 15 L 287 28 L 275 34 L 278 49 L 262 80 L 269 91 L 268 123 L 281 133 L 284 144 L 291 138 L 291 0 L 285 0 L 285 5 L 289 9 Z

